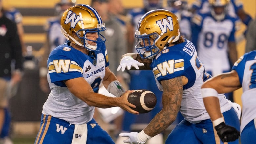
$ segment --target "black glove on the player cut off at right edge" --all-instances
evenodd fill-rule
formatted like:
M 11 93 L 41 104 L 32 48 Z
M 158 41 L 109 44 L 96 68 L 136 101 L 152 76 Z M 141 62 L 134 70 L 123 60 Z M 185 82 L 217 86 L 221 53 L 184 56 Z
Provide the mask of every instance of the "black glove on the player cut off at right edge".
M 222 142 L 235 141 L 240 136 L 240 132 L 238 132 L 236 128 L 226 125 L 224 122 L 214 128 Z

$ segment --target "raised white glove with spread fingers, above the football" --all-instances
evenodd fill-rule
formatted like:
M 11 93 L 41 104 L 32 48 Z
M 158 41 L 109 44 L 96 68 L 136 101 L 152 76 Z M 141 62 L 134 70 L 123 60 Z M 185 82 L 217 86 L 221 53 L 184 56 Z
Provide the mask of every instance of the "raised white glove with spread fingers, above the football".
M 131 66 L 138 70 L 139 66 L 144 66 L 144 64 L 134 60 L 131 56 L 124 56 L 120 61 L 120 65 L 118 66 L 117 71 L 119 71 L 121 68 L 122 71 L 124 71 L 126 67 L 127 70 L 130 70 Z

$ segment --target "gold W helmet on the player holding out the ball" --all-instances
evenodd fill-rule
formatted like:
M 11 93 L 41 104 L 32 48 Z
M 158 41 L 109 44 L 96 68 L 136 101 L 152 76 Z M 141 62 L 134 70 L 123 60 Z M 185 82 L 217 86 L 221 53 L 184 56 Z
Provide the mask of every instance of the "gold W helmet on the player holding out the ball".
M 62 34 L 74 43 L 89 51 L 96 51 L 97 45 L 90 45 L 88 41 L 105 42 L 106 39 L 99 32 L 106 30 L 98 12 L 89 5 L 75 5 L 64 11 L 61 17 Z M 86 33 L 97 32 L 99 37 L 96 41 L 87 39 Z

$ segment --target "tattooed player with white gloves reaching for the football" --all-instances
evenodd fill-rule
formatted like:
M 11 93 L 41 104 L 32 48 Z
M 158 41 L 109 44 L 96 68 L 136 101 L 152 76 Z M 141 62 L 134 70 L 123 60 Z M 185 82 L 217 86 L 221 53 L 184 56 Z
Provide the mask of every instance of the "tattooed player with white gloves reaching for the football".
M 223 143 L 200 93 L 201 85 L 211 75 L 205 72 L 193 43 L 180 35 L 177 16 L 168 10 L 149 11 L 140 19 L 135 37 L 139 54 L 125 54 L 118 70 L 131 66 L 135 70 L 151 69 L 158 88 L 163 91 L 163 108 L 141 132 L 121 133 L 120 136 L 128 137 L 124 142 L 145 143 L 169 127 L 180 111 L 184 119 L 169 134 L 166 144 Z M 238 109 L 232 107 L 224 94 L 218 97 L 226 123 L 239 130 Z M 238 140 L 229 142 L 238 143 Z

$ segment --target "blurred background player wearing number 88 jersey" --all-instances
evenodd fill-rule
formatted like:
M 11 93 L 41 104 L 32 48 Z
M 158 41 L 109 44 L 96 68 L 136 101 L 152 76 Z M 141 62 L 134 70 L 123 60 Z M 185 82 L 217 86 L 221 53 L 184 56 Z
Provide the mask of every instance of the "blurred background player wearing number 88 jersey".
M 229 72 L 238 58 L 235 32 L 238 18 L 227 13 L 229 0 L 209 0 L 210 12 L 195 14 L 192 19 L 192 42 L 195 44 L 206 72 L 216 76 Z M 233 102 L 233 94 L 227 93 Z

